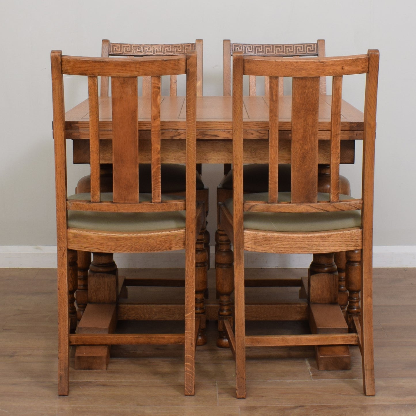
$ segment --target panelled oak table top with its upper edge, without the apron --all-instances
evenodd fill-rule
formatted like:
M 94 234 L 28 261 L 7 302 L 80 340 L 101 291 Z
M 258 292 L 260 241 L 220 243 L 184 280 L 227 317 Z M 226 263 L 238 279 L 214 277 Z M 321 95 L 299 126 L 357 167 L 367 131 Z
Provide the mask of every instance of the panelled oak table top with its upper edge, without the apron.
M 243 120 L 245 129 L 266 129 L 269 118 L 269 99 L 264 96 L 244 97 Z M 279 129 L 291 130 L 290 95 L 279 100 Z M 100 130 L 111 130 L 111 97 L 99 97 Z M 231 130 L 232 97 L 197 97 L 197 129 Z M 329 130 L 331 96 L 321 95 L 319 100 L 319 130 Z M 161 128 L 184 129 L 186 118 L 185 97 L 162 97 Z M 88 100 L 66 113 L 66 130 L 89 129 Z M 139 130 L 150 128 L 150 97 L 139 97 Z M 363 113 L 342 102 L 341 130 L 363 130 Z M 77 138 L 77 137 L 68 137 Z

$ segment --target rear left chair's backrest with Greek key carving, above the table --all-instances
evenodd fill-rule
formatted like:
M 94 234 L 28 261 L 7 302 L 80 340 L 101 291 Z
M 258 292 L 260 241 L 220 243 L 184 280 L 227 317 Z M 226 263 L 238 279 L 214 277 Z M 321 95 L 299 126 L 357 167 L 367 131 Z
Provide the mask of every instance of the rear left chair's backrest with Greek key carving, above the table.
M 196 72 L 197 84 L 196 95 L 202 95 L 202 59 L 203 59 L 203 41 L 197 39 L 193 43 L 114 43 L 108 39 L 102 40 L 101 56 L 129 56 L 129 57 L 150 57 L 150 56 L 176 56 L 186 54 L 190 50 L 196 50 Z M 170 95 L 174 96 L 177 92 L 177 75 L 171 75 Z M 143 77 L 142 95 L 150 97 L 151 86 L 150 77 Z M 101 96 L 108 97 L 108 78 L 101 78 Z

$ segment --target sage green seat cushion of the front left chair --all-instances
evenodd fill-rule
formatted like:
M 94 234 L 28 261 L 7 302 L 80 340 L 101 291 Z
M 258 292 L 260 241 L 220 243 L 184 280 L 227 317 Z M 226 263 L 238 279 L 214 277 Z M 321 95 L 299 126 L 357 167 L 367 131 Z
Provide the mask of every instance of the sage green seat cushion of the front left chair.
M 91 200 L 90 193 L 75 194 L 68 199 Z M 184 199 L 177 195 L 162 194 L 162 202 Z M 113 194 L 104 192 L 102 201 L 112 201 Z M 151 194 L 139 194 L 140 202 L 150 202 Z M 140 232 L 185 227 L 185 211 L 173 212 L 92 212 L 68 211 L 68 227 L 97 231 Z

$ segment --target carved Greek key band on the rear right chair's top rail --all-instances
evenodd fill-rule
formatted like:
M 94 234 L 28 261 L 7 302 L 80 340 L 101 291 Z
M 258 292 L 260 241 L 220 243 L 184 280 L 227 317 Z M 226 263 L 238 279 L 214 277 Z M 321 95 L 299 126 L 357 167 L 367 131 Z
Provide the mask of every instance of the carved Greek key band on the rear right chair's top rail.
M 244 55 L 259 56 L 314 56 L 318 55 L 317 43 L 254 44 L 231 43 L 233 52 L 242 51 Z

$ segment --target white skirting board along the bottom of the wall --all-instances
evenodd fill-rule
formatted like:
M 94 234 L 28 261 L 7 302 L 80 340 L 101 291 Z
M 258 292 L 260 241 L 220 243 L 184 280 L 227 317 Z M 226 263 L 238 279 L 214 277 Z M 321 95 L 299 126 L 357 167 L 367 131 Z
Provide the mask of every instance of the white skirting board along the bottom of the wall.
M 214 247 L 211 247 L 211 267 L 214 267 Z M 309 254 L 245 253 L 246 267 L 309 267 Z M 115 254 L 119 268 L 181 268 L 185 267 L 183 252 Z M 0 268 L 56 267 L 56 246 L 0 246 Z M 374 267 L 416 267 L 416 246 L 374 246 Z

